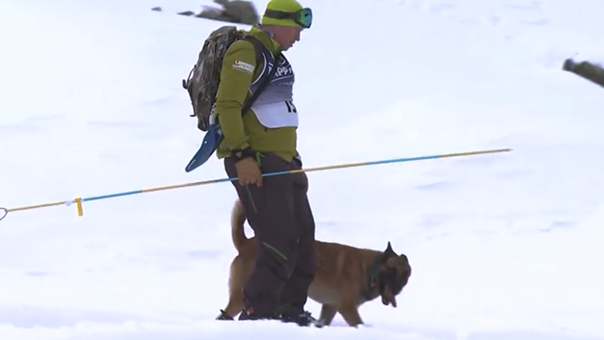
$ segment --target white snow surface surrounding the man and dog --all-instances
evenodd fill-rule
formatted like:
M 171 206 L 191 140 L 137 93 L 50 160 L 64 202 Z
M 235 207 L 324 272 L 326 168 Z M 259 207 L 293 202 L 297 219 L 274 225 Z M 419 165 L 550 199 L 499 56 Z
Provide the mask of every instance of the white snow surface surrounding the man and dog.
M 359 329 L 214 321 L 235 255 L 221 183 L 10 213 L 2 340 L 604 339 L 604 95 L 561 70 L 604 56 L 604 2 L 304 4 L 287 56 L 306 167 L 514 150 L 309 174 L 319 239 L 409 257 L 399 307 L 363 306 Z M 225 176 L 183 170 L 202 134 L 181 79 L 222 25 L 174 14 L 199 6 L 2 2 L 0 206 Z

